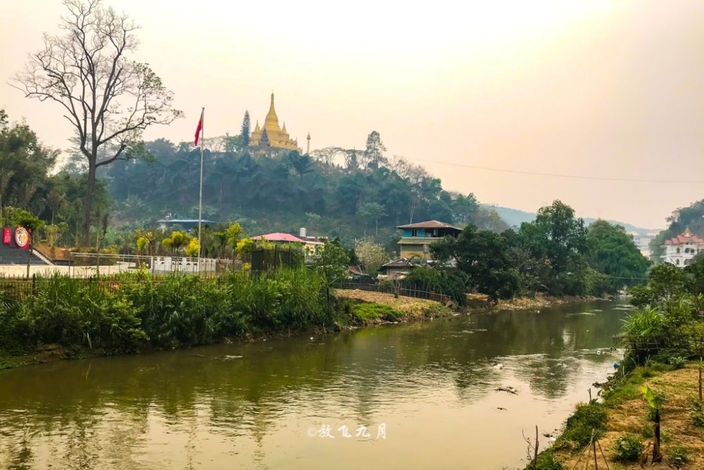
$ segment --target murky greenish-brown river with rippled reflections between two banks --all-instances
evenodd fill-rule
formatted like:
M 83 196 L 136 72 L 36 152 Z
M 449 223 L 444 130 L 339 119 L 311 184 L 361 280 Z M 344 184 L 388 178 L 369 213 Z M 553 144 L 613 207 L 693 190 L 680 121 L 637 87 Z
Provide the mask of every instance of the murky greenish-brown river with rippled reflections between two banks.
M 565 304 L 1 371 L 0 469 L 522 468 L 522 433 L 537 425 L 545 447 L 596 397 L 626 313 Z

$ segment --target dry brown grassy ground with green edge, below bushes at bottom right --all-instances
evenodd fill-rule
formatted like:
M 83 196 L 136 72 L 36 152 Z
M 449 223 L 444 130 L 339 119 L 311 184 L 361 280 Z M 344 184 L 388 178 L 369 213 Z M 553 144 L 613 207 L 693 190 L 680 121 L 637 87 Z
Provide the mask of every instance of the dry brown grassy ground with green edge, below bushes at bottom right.
M 651 466 L 654 412 L 643 395 L 653 391 L 660 402 L 662 462 L 653 468 L 704 468 L 704 412 L 699 401 L 698 364 L 639 366 L 625 378 L 619 373 L 603 384 L 603 402 L 580 404 L 566 421 L 553 447 L 541 454 L 538 469 L 593 469 L 591 432 L 598 434 L 598 468 L 636 470 Z M 584 450 L 586 449 L 586 452 Z M 603 452 L 603 454 L 602 454 Z M 647 462 L 646 462 L 647 460 Z M 578 463 L 579 462 L 579 463 Z M 534 467 L 527 466 L 527 470 Z

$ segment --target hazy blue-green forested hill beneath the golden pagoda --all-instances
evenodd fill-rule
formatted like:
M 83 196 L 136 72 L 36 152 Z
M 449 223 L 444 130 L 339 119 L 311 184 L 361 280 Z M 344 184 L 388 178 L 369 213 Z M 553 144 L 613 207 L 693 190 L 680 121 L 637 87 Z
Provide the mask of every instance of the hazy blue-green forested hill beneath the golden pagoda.
M 102 175 L 114 201 L 111 225 L 152 226 L 167 214 L 197 218 L 199 151 L 166 140 L 144 147 L 149 158 L 115 161 Z M 237 221 L 249 235 L 298 233 L 306 227 L 309 235 L 339 236 L 344 242 L 375 236 L 389 247 L 398 240 L 396 225 L 410 222 L 508 228 L 473 194 L 443 190 L 441 181 L 420 166 L 337 148 L 311 156 L 206 150 L 203 218 Z

